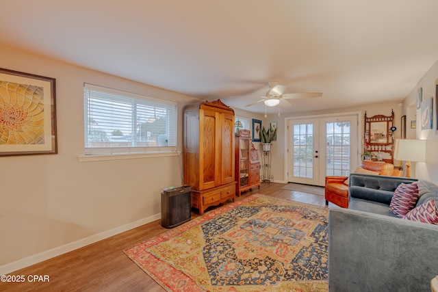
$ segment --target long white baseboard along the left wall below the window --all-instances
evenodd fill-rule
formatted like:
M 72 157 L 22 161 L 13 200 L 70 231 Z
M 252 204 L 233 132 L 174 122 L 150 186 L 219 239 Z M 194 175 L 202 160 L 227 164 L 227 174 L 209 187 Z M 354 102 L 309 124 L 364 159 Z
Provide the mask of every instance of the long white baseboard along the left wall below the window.
M 144 224 L 148 224 L 155 220 L 161 218 L 161 213 L 137 220 L 136 222 L 131 222 L 129 224 L 119 226 L 117 228 L 103 231 L 102 233 L 97 233 L 95 235 L 91 235 L 89 237 L 85 237 L 83 239 L 79 239 L 77 241 L 73 241 L 71 243 L 67 243 L 57 248 L 52 248 L 51 250 L 46 250 L 45 252 L 40 252 L 39 254 L 34 254 L 31 256 L 27 256 L 26 258 L 22 258 L 21 260 L 14 261 L 12 263 L 8 263 L 0 267 L 0 275 L 6 275 L 11 273 L 12 271 L 16 271 L 18 269 L 23 269 L 23 267 L 29 267 L 29 265 L 34 265 L 36 263 L 40 263 L 42 261 L 46 261 L 49 258 L 53 258 L 55 256 L 59 256 L 60 254 L 65 254 L 66 252 L 71 252 L 72 250 L 77 250 L 78 248 L 83 248 L 86 245 L 91 243 L 95 243 L 102 239 L 112 237 L 119 233 L 123 233 L 127 230 L 131 230 L 138 226 L 142 226 Z

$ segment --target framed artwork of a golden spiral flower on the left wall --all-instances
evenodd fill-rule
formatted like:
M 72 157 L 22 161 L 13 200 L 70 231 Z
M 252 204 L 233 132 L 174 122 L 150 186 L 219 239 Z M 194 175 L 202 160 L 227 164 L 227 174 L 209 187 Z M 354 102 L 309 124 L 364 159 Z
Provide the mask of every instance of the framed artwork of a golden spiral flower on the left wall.
M 55 79 L 0 68 L 0 156 L 57 154 Z

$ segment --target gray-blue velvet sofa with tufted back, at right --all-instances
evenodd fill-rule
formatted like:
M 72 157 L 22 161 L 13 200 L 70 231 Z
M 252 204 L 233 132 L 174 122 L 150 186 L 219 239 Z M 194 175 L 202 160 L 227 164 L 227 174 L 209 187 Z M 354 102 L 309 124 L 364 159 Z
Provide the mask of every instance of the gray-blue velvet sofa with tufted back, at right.
M 430 291 L 438 275 L 438 225 L 389 212 L 394 190 L 415 178 L 350 175 L 348 209 L 329 210 L 329 290 Z M 419 181 L 420 199 L 438 202 L 438 187 Z

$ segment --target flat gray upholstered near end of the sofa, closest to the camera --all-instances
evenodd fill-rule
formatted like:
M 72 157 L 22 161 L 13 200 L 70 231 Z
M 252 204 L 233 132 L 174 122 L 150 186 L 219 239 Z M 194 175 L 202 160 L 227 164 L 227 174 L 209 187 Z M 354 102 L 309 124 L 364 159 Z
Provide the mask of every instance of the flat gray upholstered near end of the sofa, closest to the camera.
M 328 290 L 430 292 L 437 242 L 438 225 L 330 208 Z

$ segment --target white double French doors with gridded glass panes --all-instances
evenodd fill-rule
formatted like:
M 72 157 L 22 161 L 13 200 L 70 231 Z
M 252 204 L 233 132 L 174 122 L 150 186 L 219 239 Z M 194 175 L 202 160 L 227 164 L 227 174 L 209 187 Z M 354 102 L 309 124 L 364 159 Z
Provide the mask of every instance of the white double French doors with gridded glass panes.
M 287 121 L 287 181 L 324 185 L 325 176 L 348 176 L 357 166 L 357 116 Z

